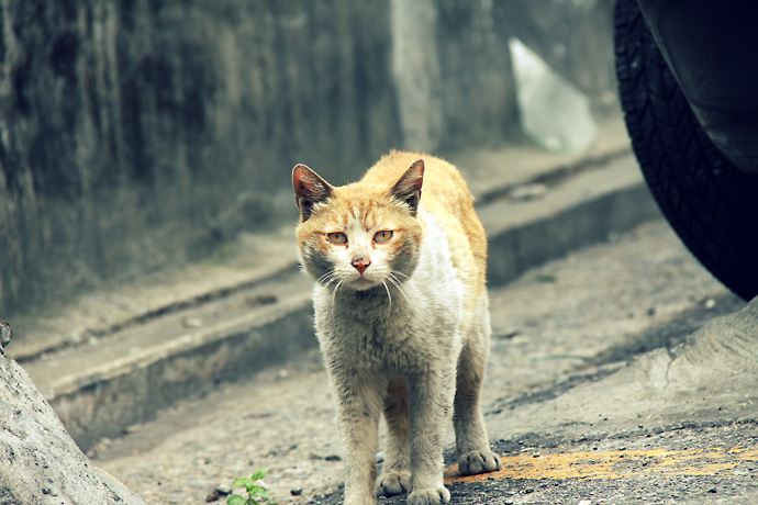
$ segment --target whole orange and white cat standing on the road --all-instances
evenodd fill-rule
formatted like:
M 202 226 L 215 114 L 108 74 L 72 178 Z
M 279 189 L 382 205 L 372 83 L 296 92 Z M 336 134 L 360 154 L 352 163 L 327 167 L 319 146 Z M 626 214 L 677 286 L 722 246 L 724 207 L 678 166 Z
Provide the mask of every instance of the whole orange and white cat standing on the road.
M 393 152 L 356 183 L 292 171 L 300 258 L 343 440 L 345 504 L 409 492 L 448 503 L 450 417 L 461 474 L 490 472 L 479 405 L 489 350 L 487 242 L 466 182 L 438 158 Z M 388 448 L 376 479 L 378 423 Z

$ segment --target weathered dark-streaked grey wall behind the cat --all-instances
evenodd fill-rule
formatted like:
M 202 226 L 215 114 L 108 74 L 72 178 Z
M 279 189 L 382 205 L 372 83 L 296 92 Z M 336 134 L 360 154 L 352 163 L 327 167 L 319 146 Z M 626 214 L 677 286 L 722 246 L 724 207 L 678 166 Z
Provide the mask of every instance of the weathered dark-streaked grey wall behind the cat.
M 611 3 L 0 0 L 0 312 L 294 218 L 298 161 L 501 139 L 511 35 L 602 106 Z

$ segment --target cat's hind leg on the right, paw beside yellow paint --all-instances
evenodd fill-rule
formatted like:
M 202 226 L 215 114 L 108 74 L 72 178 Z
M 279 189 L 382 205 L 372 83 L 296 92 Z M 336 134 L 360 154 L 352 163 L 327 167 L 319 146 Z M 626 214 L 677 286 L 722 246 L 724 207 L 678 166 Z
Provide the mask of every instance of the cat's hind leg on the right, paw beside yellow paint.
M 492 472 L 500 458 L 490 449 L 479 396 L 489 354 L 490 319 L 487 300 L 480 303 L 479 318 L 472 325 L 458 357 L 453 425 L 461 475 Z

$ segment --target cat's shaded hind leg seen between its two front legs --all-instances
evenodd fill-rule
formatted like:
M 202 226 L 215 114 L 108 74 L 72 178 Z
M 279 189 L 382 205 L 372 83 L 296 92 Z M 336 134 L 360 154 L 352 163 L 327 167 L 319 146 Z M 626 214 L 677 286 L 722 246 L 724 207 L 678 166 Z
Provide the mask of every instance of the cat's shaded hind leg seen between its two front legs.
M 408 384 L 402 378 L 390 380 L 387 386 L 384 419 L 387 451 L 376 491 L 378 496 L 392 496 L 411 491 L 411 419 Z

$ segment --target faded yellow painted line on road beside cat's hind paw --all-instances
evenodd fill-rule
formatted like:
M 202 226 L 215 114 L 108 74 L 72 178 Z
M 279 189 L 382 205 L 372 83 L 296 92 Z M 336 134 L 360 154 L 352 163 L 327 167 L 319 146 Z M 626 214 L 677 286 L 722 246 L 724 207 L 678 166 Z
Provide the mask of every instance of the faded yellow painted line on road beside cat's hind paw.
M 501 479 L 624 479 L 656 475 L 715 475 L 758 461 L 758 449 L 744 447 L 694 450 L 578 451 L 545 456 L 503 456 L 502 468 L 492 473 L 460 476 L 458 465 L 445 471 L 446 482 Z

